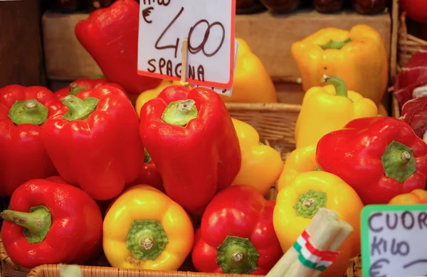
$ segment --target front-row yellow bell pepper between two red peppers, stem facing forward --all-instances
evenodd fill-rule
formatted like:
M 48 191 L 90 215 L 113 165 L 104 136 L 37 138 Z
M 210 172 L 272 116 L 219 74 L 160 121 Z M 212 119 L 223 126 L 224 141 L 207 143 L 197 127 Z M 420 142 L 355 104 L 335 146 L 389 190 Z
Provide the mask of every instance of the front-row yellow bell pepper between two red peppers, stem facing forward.
M 148 185 L 131 187 L 117 197 L 103 229 L 105 256 L 117 268 L 175 271 L 194 243 L 186 211 Z

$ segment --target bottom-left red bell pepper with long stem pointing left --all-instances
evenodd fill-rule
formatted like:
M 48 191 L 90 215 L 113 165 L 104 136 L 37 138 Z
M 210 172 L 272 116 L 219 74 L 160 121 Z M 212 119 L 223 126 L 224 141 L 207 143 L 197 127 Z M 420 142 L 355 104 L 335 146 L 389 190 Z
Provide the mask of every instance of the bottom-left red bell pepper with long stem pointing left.
M 33 179 L 0 214 L 1 239 L 14 263 L 85 263 L 102 249 L 102 217 L 93 199 L 68 184 Z

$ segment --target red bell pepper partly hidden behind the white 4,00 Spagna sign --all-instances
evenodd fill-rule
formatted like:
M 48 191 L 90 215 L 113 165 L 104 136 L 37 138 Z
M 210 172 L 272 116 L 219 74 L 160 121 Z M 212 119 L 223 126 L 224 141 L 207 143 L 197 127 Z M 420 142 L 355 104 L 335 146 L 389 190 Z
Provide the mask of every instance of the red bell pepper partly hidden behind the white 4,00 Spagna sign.
M 93 11 L 75 26 L 75 36 L 101 68 L 107 80 L 139 94 L 162 82 L 137 73 L 139 4 L 116 1 Z

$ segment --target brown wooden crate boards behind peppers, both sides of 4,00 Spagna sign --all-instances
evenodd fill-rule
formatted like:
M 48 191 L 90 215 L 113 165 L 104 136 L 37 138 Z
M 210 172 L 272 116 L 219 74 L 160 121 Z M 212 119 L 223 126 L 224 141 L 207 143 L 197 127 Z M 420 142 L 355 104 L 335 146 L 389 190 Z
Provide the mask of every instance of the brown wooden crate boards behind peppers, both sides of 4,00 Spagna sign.
M 100 74 L 100 68 L 75 38 L 74 27 L 88 14 L 43 14 L 43 42 L 46 70 L 51 80 L 75 80 Z M 389 11 L 364 16 L 354 11 L 320 14 L 314 10 L 300 10 L 292 14 L 260 14 L 236 16 L 236 37 L 243 38 L 263 62 L 277 82 L 296 82 L 300 77 L 290 53 L 292 42 L 305 38 L 325 27 L 349 29 L 365 23 L 381 34 L 391 61 L 393 53 L 392 21 Z M 392 62 L 391 62 L 392 64 Z

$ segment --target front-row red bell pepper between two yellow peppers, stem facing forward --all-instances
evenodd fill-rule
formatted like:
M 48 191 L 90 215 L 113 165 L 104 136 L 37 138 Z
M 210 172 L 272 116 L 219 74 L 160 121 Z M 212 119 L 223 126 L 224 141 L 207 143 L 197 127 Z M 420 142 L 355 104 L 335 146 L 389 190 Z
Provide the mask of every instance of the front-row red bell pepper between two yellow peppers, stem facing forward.
M 192 260 L 201 272 L 268 273 L 283 256 L 273 228 L 274 201 L 233 185 L 216 194 L 196 231 Z

